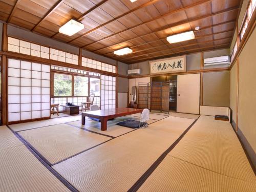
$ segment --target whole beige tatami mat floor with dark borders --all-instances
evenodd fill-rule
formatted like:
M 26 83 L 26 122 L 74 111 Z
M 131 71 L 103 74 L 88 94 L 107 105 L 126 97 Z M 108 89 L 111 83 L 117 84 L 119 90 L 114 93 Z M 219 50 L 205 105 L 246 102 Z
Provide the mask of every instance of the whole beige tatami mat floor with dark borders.
M 104 132 L 80 115 L 10 125 L 23 142 L 0 126 L 0 191 L 256 190 L 229 122 L 151 113 L 145 129 L 116 125 L 139 117 L 110 120 Z

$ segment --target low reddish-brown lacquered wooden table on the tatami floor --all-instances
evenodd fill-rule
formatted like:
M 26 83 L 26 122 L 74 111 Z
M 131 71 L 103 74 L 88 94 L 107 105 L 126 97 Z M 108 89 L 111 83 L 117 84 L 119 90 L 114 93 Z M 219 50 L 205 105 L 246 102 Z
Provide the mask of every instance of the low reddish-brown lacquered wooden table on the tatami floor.
M 125 115 L 132 115 L 136 113 L 142 113 L 143 109 L 133 109 L 133 108 L 115 108 L 109 110 L 97 110 L 90 112 L 82 112 L 82 124 L 86 124 L 86 117 L 93 117 L 100 119 L 101 131 L 106 131 L 106 125 L 109 119 L 114 119 L 116 117 L 122 117 Z

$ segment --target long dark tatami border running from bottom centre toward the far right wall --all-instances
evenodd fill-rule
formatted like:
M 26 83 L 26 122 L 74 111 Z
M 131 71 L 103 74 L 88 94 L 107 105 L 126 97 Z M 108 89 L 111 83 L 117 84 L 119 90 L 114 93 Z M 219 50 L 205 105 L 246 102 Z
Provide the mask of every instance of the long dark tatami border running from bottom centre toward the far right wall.
M 200 115 L 199 115 L 200 117 Z M 134 185 L 128 190 L 129 192 L 137 191 L 141 185 L 146 181 L 146 179 L 154 172 L 154 170 L 157 168 L 157 166 L 163 161 L 163 159 L 168 155 L 170 151 L 173 150 L 173 148 L 179 143 L 179 141 L 184 137 L 184 135 L 189 131 L 189 129 L 197 122 L 199 117 L 191 123 L 187 129 L 180 135 L 180 137 L 167 148 L 167 150 L 151 165 L 150 168 L 146 170 L 146 172 L 137 180 L 137 182 L 134 183 Z

